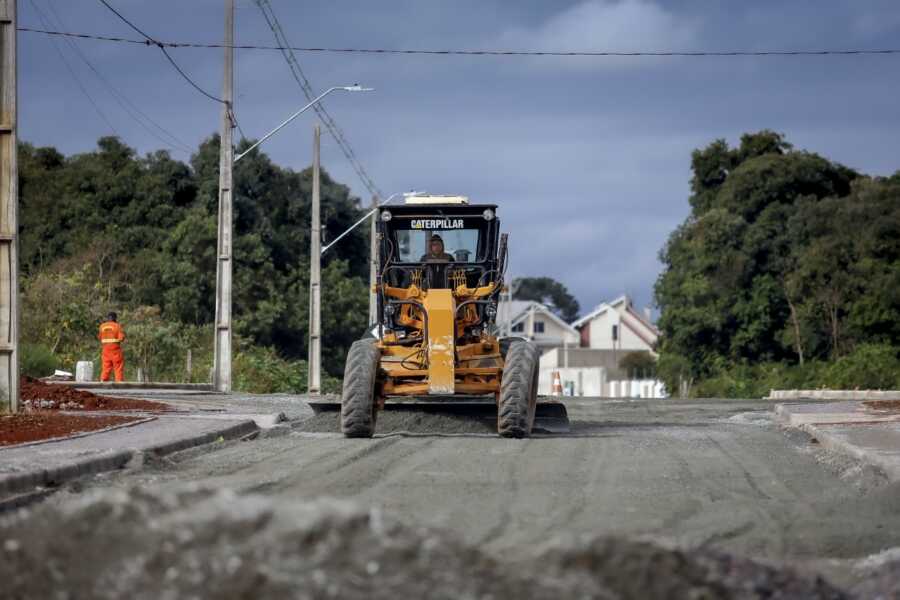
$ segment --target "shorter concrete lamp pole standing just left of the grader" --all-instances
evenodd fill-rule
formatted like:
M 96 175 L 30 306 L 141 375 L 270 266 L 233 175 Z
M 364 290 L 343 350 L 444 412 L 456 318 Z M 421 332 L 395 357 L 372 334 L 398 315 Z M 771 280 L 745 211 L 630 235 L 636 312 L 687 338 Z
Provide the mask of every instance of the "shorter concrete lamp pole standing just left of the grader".
M 319 212 L 319 141 L 322 131 L 313 130 L 313 198 L 309 248 L 309 378 L 310 396 L 321 393 L 322 376 L 322 217 Z

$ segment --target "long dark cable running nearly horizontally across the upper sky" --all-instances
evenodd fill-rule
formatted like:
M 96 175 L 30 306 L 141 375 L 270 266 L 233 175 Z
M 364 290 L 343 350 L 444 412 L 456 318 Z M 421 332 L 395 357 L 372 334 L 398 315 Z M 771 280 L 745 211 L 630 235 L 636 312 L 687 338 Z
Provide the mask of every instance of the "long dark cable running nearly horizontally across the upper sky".
M 69 31 L 54 31 L 48 29 L 36 29 L 32 27 L 19 27 L 18 31 L 25 33 L 39 33 L 49 36 L 77 37 L 104 42 L 118 42 L 127 44 L 141 44 L 145 46 L 164 46 L 166 48 L 225 48 L 225 44 L 202 42 L 163 42 L 155 39 L 138 40 L 133 38 L 96 35 L 89 33 L 76 33 Z M 731 56 L 872 56 L 900 54 L 900 48 L 857 48 L 834 50 L 649 50 L 649 51 L 618 51 L 618 50 L 429 50 L 429 49 L 403 49 L 403 48 L 325 48 L 304 46 L 271 46 L 264 44 L 233 44 L 229 46 L 235 50 L 292 50 L 294 52 L 318 52 L 328 54 L 424 54 L 444 56 L 584 56 L 584 57 L 731 57 Z

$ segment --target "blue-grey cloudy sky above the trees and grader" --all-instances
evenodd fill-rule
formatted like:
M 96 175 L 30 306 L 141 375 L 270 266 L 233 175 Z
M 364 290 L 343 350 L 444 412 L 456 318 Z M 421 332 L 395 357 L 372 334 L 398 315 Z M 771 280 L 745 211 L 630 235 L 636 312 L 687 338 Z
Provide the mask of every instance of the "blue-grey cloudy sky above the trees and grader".
M 110 2 L 163 40 L 222 39 L 222 0 Z M 304 47 L 900 48 L 896 0 L 271 3 L 290 42 Z M 97 0 L 19 0 L 19 7 L 20 26 L 42 27 L 43 15 L 53 29 L 134 37 Z M 253 0 L 237 0 L 236 29 L 238 43 L 273 43 Z M 160 134 L 129 115 L 131 105 L 189 147 L 217 130 L 219 105 L 180 79 L 158 50 L 75 43 L 96 72 L 61 40 L 19 35 L 22 139 L 74 153 L 116 133 L 140 152 L 161 148 Z M 220 94 L 221 50 L 170 52 Z M 688 212 L 691 150 L 715 138 L 734 143 L 743 132 L 770 128 L 867 173 L 900 169 L 900 55 L 298 58 L 317 88 L 377 88 L 333 94 L 326 105 L 382 190 L 500 204 L 514 274 L 562 281 L 583 311 L 622 293 L 639 305 L 652 301 L 659 249 Z M 237 116 L 250 137 L 304 104 L 278 52 L 238 51 L 235 79 Z M 303 115 L 265 151 L 279 164 L 305 167 L 313 122 L 311 112 Z M 325 167 L 366 197 L 332 140 L 323 137 L 322 152 Z

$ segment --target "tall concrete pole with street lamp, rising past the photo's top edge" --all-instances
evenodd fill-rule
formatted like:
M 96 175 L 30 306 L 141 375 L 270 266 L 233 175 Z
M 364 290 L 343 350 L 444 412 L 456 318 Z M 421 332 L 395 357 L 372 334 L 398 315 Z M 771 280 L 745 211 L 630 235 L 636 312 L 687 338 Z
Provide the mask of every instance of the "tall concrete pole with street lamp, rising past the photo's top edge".
M 225 0 L 225 76 L 222 82 L 222 136 L 219 147 L 219 231 L 216 252 L 216 341 L 213 384 L 231 392 L 232 106 L 234 98 L 234 0 Z

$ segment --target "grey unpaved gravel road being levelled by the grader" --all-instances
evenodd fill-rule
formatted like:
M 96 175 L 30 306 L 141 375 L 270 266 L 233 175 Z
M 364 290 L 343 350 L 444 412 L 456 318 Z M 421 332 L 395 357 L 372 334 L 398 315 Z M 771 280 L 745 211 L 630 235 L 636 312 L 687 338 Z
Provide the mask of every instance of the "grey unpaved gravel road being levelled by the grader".
M 769 403 L 567 405 L 568 435 L 426 434 L 397 431 L 411 426 L 395 420 L 380 423 L 375 439 L 347 440 L 321 431 L 331 426 L 319 419 L 86 487 L 189 481 L 276 504 L 351 500 L 509 560 L 569 536 L 648 536 L 815 570 L 850 587 L 869 577 L 863 567 L 897 556 L 900 490 L 782 431 Z M 59 494 L 49 504 L 70 501 Z

